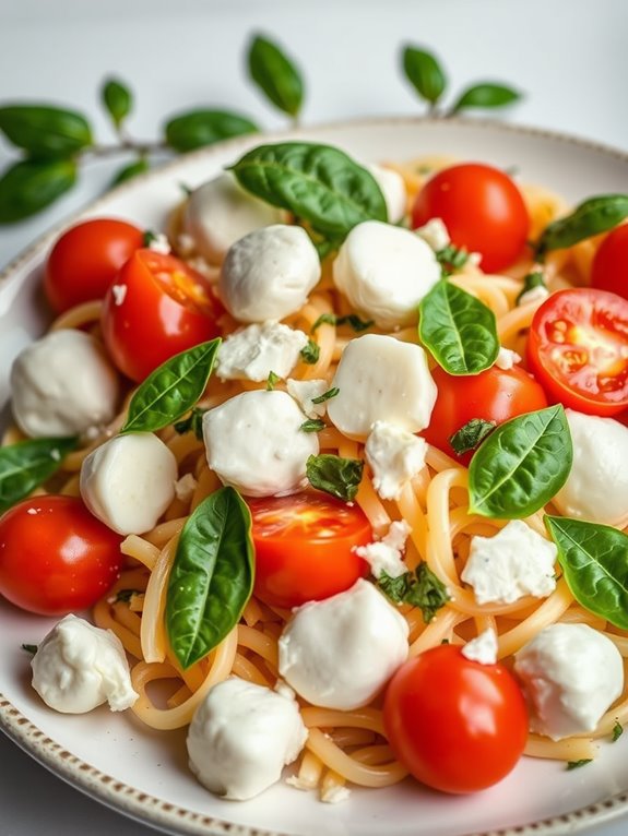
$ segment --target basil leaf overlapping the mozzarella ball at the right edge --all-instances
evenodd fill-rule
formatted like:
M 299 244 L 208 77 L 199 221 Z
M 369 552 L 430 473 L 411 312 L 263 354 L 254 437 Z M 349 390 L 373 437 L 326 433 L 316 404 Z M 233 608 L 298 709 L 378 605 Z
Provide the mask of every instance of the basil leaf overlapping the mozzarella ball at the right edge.
M 573 451 L 560 404 L 497 427 L 469 468 L 469 513 L 519 519 L 543 507 L 565 485 Z

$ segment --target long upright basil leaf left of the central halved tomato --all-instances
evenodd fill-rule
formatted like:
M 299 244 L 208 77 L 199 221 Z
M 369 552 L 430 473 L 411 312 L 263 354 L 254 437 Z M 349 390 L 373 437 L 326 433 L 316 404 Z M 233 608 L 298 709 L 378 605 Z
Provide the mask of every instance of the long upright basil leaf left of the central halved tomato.
M 221 488 L 188 518 L 168 578 L 166 630 L 183 669 L 238 623 L 253 571 L 250 511 L 234 488 Z

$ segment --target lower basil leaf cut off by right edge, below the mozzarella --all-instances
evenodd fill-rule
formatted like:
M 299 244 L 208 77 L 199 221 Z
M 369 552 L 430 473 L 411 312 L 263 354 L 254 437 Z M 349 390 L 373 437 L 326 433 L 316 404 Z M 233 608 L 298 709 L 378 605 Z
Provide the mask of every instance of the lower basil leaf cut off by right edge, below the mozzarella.
M 628 535 L 608 525 L 546 516 L 558 562 L 576 600 L 628 629 Z

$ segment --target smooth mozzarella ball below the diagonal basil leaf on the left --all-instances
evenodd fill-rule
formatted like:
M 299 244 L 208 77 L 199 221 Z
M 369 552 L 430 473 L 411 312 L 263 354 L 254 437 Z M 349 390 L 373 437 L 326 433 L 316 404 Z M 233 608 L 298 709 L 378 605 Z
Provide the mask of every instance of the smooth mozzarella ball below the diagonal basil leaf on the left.
M 96 447 L 81 468 L 81 495 L 118 534 L 154 528 L 175 498 L 177 459 L 152 432 L 117 435 Z

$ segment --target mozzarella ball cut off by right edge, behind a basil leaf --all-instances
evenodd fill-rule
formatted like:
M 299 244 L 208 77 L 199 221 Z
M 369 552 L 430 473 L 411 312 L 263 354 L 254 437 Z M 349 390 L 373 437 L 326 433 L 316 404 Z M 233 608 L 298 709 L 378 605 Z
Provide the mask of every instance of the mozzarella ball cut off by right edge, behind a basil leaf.
M 554 497 L 565 516 L 624 528 L 628 525 L 628 427 L 566 409 L 573 464 Z

